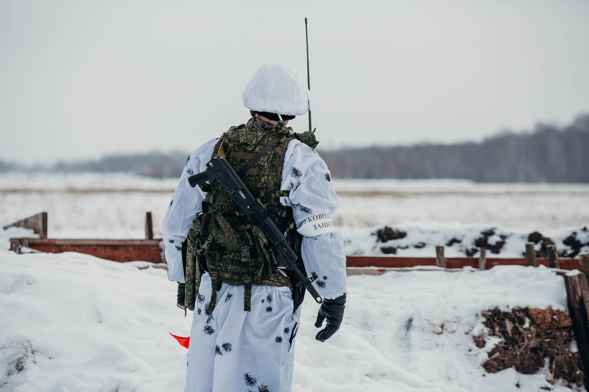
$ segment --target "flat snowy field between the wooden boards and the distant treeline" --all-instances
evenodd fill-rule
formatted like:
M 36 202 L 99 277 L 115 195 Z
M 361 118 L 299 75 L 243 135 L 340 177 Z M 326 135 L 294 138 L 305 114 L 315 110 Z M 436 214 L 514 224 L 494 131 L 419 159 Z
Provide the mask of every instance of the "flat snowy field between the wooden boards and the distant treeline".
M 176 179 L 127 173 L 0 175 L 0 225 L 41 211 L 51 237 L 142 238 L 146 211 L 154 232 Z M 342 230 L 425 222 L 542 233 L 589 224 L 589 185 L 485 184 L 466 180 L 333 180 Z

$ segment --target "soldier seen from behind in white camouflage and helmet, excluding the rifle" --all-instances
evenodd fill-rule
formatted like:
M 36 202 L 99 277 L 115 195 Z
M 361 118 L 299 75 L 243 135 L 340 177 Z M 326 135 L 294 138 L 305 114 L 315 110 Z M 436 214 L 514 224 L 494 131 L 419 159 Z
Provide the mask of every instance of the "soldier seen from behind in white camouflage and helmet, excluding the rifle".
M 302 256 L 299 269 L 316 278 L 313 285 L 324 301 L 315 326 L 326 320 L 316 339 L 329 339 L 343 319 L 346 258 L 342 234 L 330 219 L 337 196 L 325 162 L 313 149 L 314 131 L 299 134 L 286 126 L 309 109 L 309 89 L 296 71 L 264 65 L 242 98 L 252 117 L 188 156 L 162 223 L 178 306 L 194 309 L 186 392 L 290 391 L 304 294 L 269 252 L 263 233 L 220 185 L 188 184 L 188 177 L 204 171 L 214 156 L 224 156 L 260 197 Z M 187 269 L 194 279 L 186 286 L 198 290 L 185 304 Z

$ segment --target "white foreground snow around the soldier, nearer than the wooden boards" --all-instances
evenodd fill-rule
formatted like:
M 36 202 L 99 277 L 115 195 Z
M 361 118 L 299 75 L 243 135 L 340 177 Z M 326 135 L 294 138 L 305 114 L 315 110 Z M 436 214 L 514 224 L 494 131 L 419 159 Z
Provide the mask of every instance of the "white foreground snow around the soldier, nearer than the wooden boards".
M 190 317 L 175 306 L 176 284 L 167 282 L 165 270 L 77 253 L 4 250 L 0 270 L 0 385 L 6 383 L 0 389 L 183 389 L 187 351 L 168 332 L 186 336 Z M 482 310 L 565 309 L 562 277 L 548 269 L 389 272 L 350 276 L 348 287 L 342 329 L 325 343 L 314 339 L 317 306 L 303 306 L 293 391 L 553 388 L 542 372 L 486 374 L 481 363 L 489 347 L 477 349 L 472 341 L 484 328 Z

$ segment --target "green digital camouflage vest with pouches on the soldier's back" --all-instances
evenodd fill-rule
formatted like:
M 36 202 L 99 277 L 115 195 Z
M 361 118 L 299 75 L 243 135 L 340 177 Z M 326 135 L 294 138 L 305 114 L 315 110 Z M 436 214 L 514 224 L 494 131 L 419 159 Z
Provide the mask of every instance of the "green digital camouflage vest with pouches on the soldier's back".
M 302 237 L 296 231 L 292 208 L 280 203 L 288 190 L 280 190 L 284 155 L 289 142 L 298 139 L 311 148 L 317 140 L 313 132 L 293 133 L 282 122 L 273 126 L 257 122 L 254 118 L 247 124 L 232 127 L 223 133 L 214 147 L 214 156 L 225 156 L 227 162 L 240 174 L 241 180 L 254 197 L 259 197 L 281 232 L 289 240 L 292 249 L 299 255 L 299 269 L 304 273 L 300 259 Z M 256 154 L 267 145 L 275 143 L 261 157 Z M 240 169 L 256 159 L 244 173 Z M 244 285 L 244 310 L 250 310 L 252 285 L 291 286 L 278 267 L 269 249 L 262 230 L 249 222 L 231 200 L 223 196 L 223 187 L 218 182 L 200 185 L 207 197 L 203 212 L 193 221 L 188 231 L 186 249 L 186 309 L 194 310 L 195 302 L 204 301 L 198 294 L 200 277 L 209 272 L 211 277 L 211 300 L 209 309 L 215 307 L 217 291 L 221 283 Z

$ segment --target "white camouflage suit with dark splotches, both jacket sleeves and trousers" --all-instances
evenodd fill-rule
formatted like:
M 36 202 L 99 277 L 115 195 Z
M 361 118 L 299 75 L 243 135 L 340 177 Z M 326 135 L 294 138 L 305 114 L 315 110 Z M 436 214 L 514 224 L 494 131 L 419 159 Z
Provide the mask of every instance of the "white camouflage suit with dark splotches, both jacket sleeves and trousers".
M 168 279 L 176 282 L 184 282 L 181 243 L 206 196 L 198 186 L 188 185 L 188 177 L 206 169 L 216 141 L 210 140 L 188 157 L 164 216 Z M 322 297 L 342 296 L 346 258 L 342 234 L 330 219 L 338 200 L 325 162 L 315 150 L 292 140 L 284 156 L 280 189 L 290 191 L 280 202 L 293 207 L 294 221 L 303 235 L 301 256 L 307 276 L 317 275 L 313 285 Z M 190 331 L 186 392 L 290 391 L 300 309 L 293 313 L 288 287 L 253 286 L 252 310 L 244 311 L 243 291 L 243 286 L 223 283 L 217 306 L 210 312 L 205 305 L 211 282 L 207 273 L 203 275 Z M 312 299 L 307 296 L 307 301 Z

